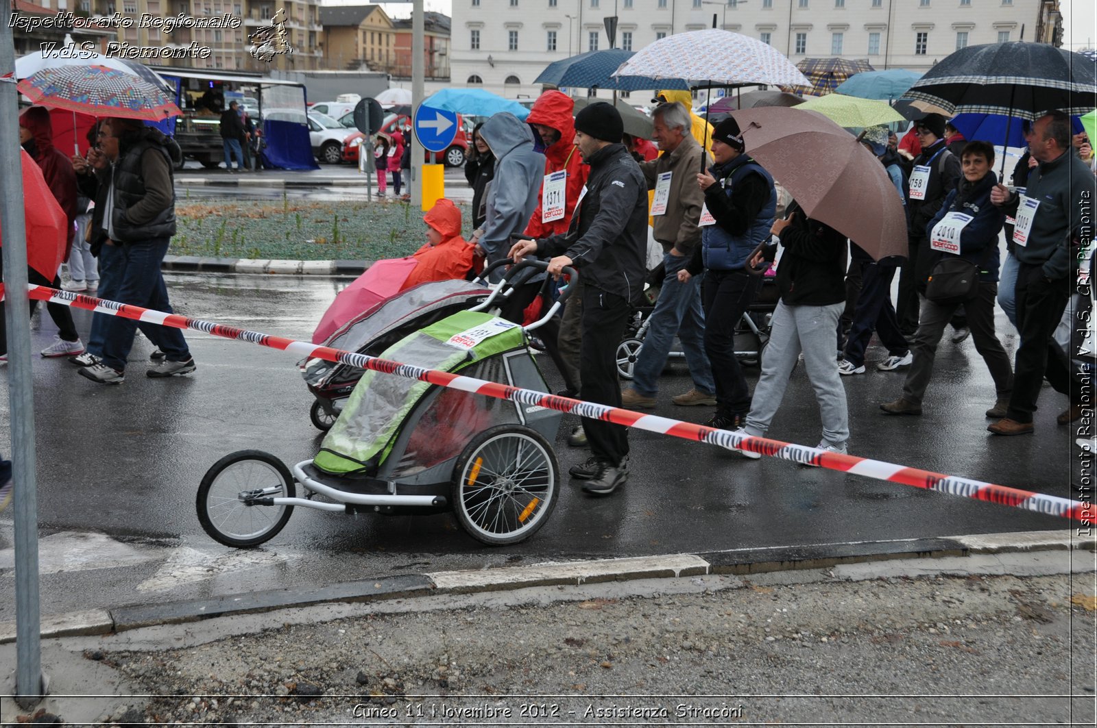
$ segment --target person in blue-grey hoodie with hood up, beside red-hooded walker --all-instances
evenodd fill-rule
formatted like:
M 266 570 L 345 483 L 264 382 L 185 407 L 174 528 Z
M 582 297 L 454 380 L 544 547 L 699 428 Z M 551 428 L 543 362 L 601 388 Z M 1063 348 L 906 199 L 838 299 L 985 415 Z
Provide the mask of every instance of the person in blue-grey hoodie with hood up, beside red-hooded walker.
M 507 257 L 510 236 L 525 230 L 538 204 L 545 158 L 533 150 L 533 129 L 509 112 L 485 122 L 480 137 L 495 155 L 495 178 L 485 194 L 487 217 L 476 244 L 491 264 Z M 500 277 L 502 271 L 497 270 L 491 281 Z

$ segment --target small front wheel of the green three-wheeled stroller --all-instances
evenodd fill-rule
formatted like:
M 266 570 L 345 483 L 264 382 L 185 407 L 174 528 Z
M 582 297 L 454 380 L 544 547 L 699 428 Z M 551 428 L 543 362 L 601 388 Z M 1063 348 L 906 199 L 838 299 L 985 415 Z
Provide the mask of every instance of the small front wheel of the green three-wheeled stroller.
M 199 523 L 210 537 L 237 548 L 267 543 L 278 535 L 292 505 L 263 505 L 262 499 L 293 498 L 293 476 L 279 458 L 258 450 L 226 455 L 199 486 Z

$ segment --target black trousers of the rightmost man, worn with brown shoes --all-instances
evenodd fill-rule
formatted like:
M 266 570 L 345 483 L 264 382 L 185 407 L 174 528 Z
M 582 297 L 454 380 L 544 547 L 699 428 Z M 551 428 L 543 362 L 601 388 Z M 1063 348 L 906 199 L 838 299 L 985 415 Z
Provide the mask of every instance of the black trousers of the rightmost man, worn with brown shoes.
M 1071 297 L 1068 278 L 1048 281 L 1043 266 L 1020 263 L 1017 271 L 1017 350 L 1014 394 L 1008 417 L 1015 422 L 1031 422 L 1043 377 L 1055 391 L 1071 395 L 1071 375 L 1062 351 L 1052 334 L 1063 318 Z M 1072 400 L 1074 401 L 1074 400 Z

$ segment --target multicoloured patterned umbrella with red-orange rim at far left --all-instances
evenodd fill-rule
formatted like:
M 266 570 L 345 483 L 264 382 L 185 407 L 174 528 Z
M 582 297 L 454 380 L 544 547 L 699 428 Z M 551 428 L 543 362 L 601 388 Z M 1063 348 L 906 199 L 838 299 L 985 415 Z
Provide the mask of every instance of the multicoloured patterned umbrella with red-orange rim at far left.
M 182 112 L 159 88 L 105 66 L 47 68 L 19 82 L 32 103 L 93 116 L 158 122 Z

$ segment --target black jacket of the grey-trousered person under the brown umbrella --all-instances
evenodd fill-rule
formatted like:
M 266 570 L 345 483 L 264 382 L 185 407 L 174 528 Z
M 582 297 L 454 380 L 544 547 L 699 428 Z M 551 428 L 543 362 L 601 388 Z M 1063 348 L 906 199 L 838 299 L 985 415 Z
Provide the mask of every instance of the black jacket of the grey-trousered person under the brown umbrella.
M 846 300 L 846 236 L 804 215 L 793 202 L 792 225 L 781 230 L 784 253 L 777 264 L 777 287 L 785 306 L 830 306 Z M 773 260 L 777 246 L 765 248 Z

